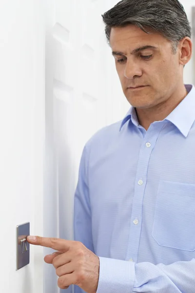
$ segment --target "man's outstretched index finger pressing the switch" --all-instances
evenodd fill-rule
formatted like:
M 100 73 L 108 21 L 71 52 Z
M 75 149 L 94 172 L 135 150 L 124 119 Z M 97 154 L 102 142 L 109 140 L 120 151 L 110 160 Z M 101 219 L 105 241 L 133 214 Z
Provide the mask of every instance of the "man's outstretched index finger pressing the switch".
M 28 236 L 27 241 L 33 245 L 40 245 L 43 247 L 50 247 L 57 251 L 66 252 L 71 247 L 71 240 L 65 240 L 60 238 L 49 238 L 40 236 Z

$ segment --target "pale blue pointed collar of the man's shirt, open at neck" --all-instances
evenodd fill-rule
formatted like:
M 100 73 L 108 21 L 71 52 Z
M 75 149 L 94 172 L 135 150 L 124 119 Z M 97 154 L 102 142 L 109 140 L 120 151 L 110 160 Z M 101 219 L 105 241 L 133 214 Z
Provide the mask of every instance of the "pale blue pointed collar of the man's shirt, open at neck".
M 195 86 L 192 84 L 185 84 L 185 87 L 188 91 L 188 95 L 164 120 L 173 123 L 178 128 L 178 130 L 185 137 L 187 137 L 190 128 L 195 122 Z M 126 116 L 122 120 L 119 131 L 129 120 L 131 120 L 136 126 L 139 125 L 134 107 L 131 107 L 127 112 Z

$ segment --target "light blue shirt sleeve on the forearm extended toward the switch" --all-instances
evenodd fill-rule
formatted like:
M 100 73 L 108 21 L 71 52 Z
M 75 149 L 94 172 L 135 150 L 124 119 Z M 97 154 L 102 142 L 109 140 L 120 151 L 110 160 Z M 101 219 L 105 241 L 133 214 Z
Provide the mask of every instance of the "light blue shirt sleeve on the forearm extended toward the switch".
M 97 293 L 195 293 L 195 259 L 170 265 L 99 259 Z

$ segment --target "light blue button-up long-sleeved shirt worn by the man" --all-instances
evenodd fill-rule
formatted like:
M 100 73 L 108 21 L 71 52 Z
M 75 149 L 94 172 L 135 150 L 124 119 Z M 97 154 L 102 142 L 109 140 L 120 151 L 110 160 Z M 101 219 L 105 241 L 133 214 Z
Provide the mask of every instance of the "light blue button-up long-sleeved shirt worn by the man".
M 74 235 L 99 256 L 97 293 L 195 293 L 195 87 L 185 86 L 147 131 L 131 107 L 84 147 Z

